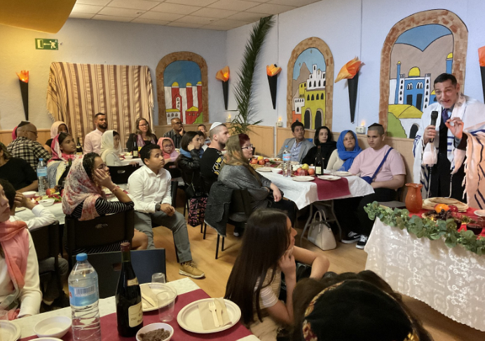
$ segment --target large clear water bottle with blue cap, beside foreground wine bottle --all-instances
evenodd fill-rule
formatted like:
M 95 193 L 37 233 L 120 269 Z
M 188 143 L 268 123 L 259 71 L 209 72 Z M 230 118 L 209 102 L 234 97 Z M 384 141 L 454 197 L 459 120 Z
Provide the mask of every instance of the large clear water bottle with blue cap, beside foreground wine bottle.
M 86 253 L 76 255 L 76 265 L 69 274 L 69 302 L 74 341 L 101 341 L 100 292 L 97 273 Z

